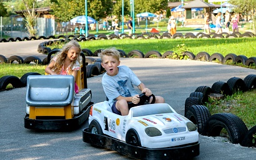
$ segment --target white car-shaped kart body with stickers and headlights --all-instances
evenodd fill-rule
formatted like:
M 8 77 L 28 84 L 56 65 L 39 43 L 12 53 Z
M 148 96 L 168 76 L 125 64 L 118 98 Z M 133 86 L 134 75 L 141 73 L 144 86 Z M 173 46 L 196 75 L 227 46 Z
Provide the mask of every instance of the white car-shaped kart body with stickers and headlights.
M 104 101 L 92 106 L 89 124 L 93 120 L 101 125 L 104 134 L 121 141 L 126 141 L 129 129 L 135 129 L 141 146 L 145 148 L 168 148 L 199 142 L 197 129 L 189 131 L 187 126 L 187 123 L 191 126 L 192 122 L 167 103 L 135 106 L 130 108 L 127 116 L 121 116 L 112 113 L 108 101 Z M 108 128 L 104 120 L 107 120 Z M 149 136 L 146 128 L 157 128 L 160 135 Z

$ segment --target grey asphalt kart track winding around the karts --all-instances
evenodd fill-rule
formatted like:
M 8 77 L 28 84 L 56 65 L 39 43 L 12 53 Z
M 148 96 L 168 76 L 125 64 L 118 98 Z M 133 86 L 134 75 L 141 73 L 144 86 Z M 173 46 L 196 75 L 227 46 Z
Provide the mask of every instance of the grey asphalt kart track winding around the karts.
M 46 55 L 37 52 L 37 45 L 46 40 L 0 43 L 0 54 L 5 57 L 19 55 L 23 58 Z M 103 42 L 103 41 L 102 41 Z M 121 59 L 121 65 L 129 66 L 152 90 L 154 95 L 165 98 L 178 113 L 184 115 L 185 99 L 201 85 L 212 87 L 217 81 L 229 78 L 244 79 L 255 70 L 231 65 L 195 60 L 170 59 Z M 1 67 L 1 66 L 0 66 Z M 92 101 L 104 101 L 101 86 L 102 75 L 88 78 Z M 82 141 L 81 126 L 70 132 L 44 132 L 24 128 L 26 114 L 26 88 L 0 92 L 0 159 L 130 159 L 116 151 L 94 148 Z M 231 144 L 222 138 L 201 136 L 200 155 L 194 159 L 256 159 L 255 148 Z M 175 155 L 174 155 L 175 156 Z

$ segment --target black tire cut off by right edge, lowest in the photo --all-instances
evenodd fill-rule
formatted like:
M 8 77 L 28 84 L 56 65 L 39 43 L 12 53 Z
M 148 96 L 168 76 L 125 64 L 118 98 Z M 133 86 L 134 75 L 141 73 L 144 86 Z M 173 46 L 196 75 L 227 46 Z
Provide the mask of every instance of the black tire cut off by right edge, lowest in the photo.
M 244 139 L 243 139 L 243 141 L 241 143 L 241 146 L 244 146 L 244 147 L 256 147 L 255 138 L 254 138 L 255 135 L 256 135 L 256 126 L 253 126 L 245 134 L 245 137 L 244 137 Z M 252 141 L 253 139 L 254 139 L 254 143 Z

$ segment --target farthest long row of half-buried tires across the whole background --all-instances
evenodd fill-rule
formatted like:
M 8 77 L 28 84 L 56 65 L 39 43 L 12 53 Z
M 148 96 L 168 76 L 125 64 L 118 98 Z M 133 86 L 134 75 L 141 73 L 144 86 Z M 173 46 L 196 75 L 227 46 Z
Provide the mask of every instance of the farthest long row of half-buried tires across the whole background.
M 104 40 L 104 39 L 180 39 L 180 38 L 237 38 L 237 37 L 255 37 L 255 34 L 252 32 L 245 32 L 244 34 L 241 34 L 240 32 L 234 32 L 232 34 L 228 34 L 227 32 L 222 32 L 222 34 L 215 34 L 215 32 L 212 32 L 210 34 L 204 34 L 204 32 L 199 32 L 197 34 L 193 34 L 192 32 L 188 32 L 186 34 L 182 33 L 175 33 L 174 35 L 171 35 L 168 32 L 164 32 L 162 35 L 160 33 L 142 33 L 142 34 L 131 34 L 128 35 L 126 33 L 122 33 L 119 35 L 116 34 L 89 34 L 87 37 L 83 34 L 79 35 L 49 35 L 45 37 L 44 35 L 41 35 L 39 37 L 31 36 L 31 37 L 9 37 L 7 39 L 0 39 L 0 42 L 17 42 L 17 41 L 25 41 L 25 40 L 42 40 L 42 39 L 76 39 L 79 42 L 84 42 L 86 40 Z M 58 40 L 56 40 L 57 42 Z M 61 40 L 62 41 L 62 40 Z

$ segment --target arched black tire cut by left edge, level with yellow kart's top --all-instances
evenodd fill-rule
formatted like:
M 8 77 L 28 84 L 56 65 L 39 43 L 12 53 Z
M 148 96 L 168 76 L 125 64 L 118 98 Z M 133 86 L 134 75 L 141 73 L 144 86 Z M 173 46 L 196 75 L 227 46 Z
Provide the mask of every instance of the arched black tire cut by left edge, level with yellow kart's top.
M 13 88 L 23 87 L 21 80 L 13 75 L 5 75 L 0 78 L 0 90 L 6 90 L 7 85 L 11 84 Z

